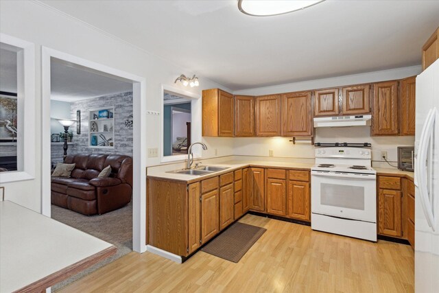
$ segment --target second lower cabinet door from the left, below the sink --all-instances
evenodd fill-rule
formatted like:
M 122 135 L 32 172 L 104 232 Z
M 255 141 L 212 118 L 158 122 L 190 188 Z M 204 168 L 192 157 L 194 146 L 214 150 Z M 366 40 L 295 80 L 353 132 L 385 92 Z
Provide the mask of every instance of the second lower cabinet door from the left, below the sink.
M 206 243 L 219 232 L 219 190 L 201 196 L 201 241 Z

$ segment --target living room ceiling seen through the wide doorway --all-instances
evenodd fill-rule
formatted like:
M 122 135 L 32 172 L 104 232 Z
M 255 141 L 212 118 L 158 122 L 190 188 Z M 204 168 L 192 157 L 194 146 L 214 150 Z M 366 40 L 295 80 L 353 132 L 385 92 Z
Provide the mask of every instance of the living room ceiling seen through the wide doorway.
M 51 99 L 75 102 L 132 91 L 132 84 L 62 60 L 51 60 Z

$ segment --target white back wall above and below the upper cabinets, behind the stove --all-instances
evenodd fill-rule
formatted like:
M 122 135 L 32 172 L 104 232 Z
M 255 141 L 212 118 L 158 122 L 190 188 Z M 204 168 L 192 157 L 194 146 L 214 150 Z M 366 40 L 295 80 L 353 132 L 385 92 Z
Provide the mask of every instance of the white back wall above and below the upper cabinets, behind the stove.
M 346 75 L 336 78 L 309 80 L 277 86 L 266 86 L 257 89 L 235 91 L 235 95 L 266 95 L 271 93 L 287 93 L 292 91 L 306 91 L 312 89 L 346 86 L 384 80 L 396 80 L 418 75 L 420 66 L 403 67 L 385 71 L 375 71 L 356 75 Z M 314 147 L 310 144 L 296 144 L 289 142 L 291 138 L 237 138 L 233 141 L 234 154 L 248 156 L 268 156 L 273 150 L 274 156 L 293 158 L 314 158 Z M 370 137 L 370 127 L 350 128 L 317 128 L 316 142 L 368 142 L 372 143 L 372 160 L 375 163 L 383 162 L 381 151 L 388 152 L 388 161 L 397 161 L 397 146 L 414 145 L 414 137 Z M 385 167 L 386 165 L 383 165 Z M 388 166 L 388 165 L 387 165 Z M 388 166 L 390 167 L 390 166 Z

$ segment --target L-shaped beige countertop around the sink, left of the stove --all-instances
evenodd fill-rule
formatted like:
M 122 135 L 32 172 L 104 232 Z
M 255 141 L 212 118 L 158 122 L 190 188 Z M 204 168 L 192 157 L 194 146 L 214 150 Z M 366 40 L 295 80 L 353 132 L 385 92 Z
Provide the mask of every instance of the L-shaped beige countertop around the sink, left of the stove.
M 147 172 L 147 177 L 154 177 L 154 178 L 162 178 L 162 179 L 169 179 L 169 180 L 177 180 L 177 181 L 184 181 L 187 183 L 196 182 L 199 180 L 203 180 L 206 178 L 211 178 L 214 176 L 219 176 L 221 174 L 226 174 L 228 172 L 233 172 L 236 169 L 241 169 L 245 167 L 275 167 L 275 168 L 285 168 L 285 169 L 300 169 L 300 170 L 306 170 L 309 171 L 311 167 L 313 167 L 314 164 L 307 164 L 307 163 L 290 163 L 290 162 L 276 162 L 276 161 L 224 161 L 224 162 L 218 162 L 218 163 L 209 163 L 209 164 L 203 164 L 203 165 L 209 165 L 209 166 L 218 166 L 218 167 L 228 167 L 228 169 L 225 169 L 220 172 L 213 172 L 211 174 L 206 174 L 202 176 L 193 176 L 193 175 L 187 175 L 187 174 L 176 174 L 176 173 L 167 173 L 165 171 L 152 171 Z

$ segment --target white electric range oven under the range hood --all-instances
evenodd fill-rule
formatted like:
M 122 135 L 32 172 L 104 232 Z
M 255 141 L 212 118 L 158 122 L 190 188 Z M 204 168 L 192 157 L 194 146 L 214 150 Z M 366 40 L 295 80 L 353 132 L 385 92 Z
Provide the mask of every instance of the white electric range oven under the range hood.
M 311 228 L 377 241 L 377 172 L 366 148 L 316 148 Z

